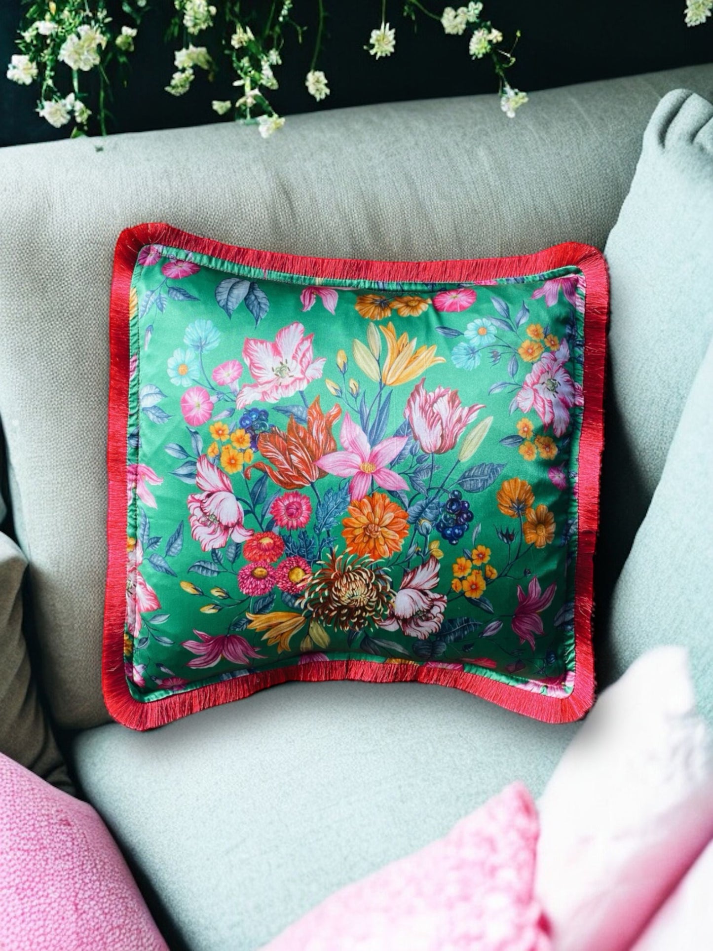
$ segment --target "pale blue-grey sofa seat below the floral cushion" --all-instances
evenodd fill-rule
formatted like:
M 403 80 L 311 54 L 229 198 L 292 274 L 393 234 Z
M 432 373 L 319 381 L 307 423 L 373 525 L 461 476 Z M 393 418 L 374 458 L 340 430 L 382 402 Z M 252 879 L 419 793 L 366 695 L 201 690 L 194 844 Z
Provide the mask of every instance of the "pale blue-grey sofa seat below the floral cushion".
M 425 684 L 283 684 L 85 730 L 73 759 L 184 946 L 252 951 L 503 786 L 539 795 L 576 728 Z

